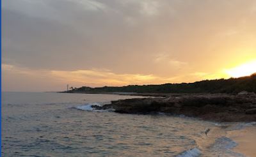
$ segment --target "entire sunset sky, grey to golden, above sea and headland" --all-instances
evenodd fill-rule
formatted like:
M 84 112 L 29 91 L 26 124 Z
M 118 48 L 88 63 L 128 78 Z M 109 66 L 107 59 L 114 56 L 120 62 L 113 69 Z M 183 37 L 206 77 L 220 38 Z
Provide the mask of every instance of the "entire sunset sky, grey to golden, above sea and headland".
M 2 91 L 256 72 L 255 0 L 3 0 Z

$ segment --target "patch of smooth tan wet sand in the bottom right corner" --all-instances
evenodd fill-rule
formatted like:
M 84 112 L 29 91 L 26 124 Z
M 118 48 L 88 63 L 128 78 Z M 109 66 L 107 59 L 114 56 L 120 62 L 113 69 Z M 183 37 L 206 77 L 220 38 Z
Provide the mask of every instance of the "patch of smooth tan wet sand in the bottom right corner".
M 234 151 L 249 157 L 256 156 L 256 126 L 246 127 L 243 130 L 228 131 L 228 136 L 238 144 Z

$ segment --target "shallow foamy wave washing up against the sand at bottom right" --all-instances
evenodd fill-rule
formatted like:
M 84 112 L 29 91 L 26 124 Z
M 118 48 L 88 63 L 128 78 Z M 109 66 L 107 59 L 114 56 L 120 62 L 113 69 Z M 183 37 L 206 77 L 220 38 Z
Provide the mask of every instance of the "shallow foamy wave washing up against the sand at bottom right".
M 256 123 L 213 123 L 217 128 L 211 128 L 211 135 L 195 137 L 195 148 L 180 153 L 178 156 L 232 156 L 244 157 L 244 154 L 237 153 L 233 149 L 238 144 L 228 136 L 228 131 L 242 130 L 248 126 L 255 126 Z M 220 129 L 218 129 L 220 127 Z M 199 135 L 205 134 L 205 131 Z M 200 152 L 201 151 L 201 152 Z

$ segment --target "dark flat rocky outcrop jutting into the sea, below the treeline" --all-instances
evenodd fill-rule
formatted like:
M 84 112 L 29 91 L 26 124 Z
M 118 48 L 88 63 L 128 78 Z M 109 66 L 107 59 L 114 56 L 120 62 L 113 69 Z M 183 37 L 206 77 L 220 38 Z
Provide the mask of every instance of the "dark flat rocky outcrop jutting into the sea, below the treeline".
M 134 98 L 111 101 L 96 110 L 114 109 L 123 114 L 152 114 L 198 117 L 218 122 L 256 121 L 256 94 L 170 94 L 163 98 Z

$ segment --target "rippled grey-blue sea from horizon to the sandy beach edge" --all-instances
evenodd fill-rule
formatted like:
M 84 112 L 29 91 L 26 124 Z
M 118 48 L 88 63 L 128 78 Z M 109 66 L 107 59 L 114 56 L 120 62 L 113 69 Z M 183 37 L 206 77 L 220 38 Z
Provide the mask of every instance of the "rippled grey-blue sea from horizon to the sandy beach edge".
M 140 98 L 113 94 L 2 93 L 3 156 L 243 156 L 213 123 L 164 114 L 118 114 L 90 105 Z M 205 130 L 210 129 L 205 135 Z

